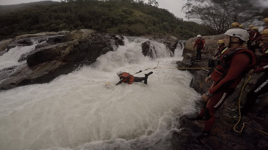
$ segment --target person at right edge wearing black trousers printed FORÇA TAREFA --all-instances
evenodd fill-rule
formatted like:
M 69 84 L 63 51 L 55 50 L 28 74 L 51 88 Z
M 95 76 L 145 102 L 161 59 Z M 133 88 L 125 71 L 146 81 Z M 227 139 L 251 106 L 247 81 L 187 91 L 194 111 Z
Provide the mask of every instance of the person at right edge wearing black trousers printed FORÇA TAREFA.
M 247 99 L 244 106 L 240 109 L 241 118 L 245 118 L 246 114 L 253 108 L 257 98 L 268 92 L 268 29 L 264 29 L 262 32 L 262 40 L 264 42 L 261 48 L 260 66 L 257 69 L 249 71 L 249 74 L 255 74 L 264 72 L 264 74 L 258 79 L 254 87 L 247 93 Z M 228 117 L 239 118 L 238 108 L 229 108 L 229 110 L 236 113 L 228 114 Z

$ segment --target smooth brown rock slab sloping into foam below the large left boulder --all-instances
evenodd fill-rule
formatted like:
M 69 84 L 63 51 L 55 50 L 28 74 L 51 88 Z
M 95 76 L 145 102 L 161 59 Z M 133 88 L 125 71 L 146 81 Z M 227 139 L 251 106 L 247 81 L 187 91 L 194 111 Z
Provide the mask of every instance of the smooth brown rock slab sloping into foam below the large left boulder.
M 71 63 L 58 60 L 44 62 L 34 67 L 24 65 L 11 78 L 3 80 L 0 83 L 0 89 L 6 90 L 22 85 L 46 83 L 73 70 L 74 66 Z

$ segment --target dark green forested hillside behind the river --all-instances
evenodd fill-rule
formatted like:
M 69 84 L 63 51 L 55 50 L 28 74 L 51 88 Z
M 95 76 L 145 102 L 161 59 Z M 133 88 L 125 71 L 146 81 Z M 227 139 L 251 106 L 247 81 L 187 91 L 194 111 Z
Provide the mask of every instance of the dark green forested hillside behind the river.
M 93 29 L 126 36 L 212 35 L 209 27 L 183 21 L 168 10 L 143 0 L 67 0 L 34 5 L 0 15 L 0 40 L 44 31 Z

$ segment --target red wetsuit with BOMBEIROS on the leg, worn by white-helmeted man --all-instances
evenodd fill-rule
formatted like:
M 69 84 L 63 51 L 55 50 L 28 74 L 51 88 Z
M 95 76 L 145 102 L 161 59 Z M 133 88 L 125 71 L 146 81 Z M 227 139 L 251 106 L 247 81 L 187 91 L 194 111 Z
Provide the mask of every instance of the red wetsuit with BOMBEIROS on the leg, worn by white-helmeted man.
M 231 50 L 226 50 L 220 59 L 224 57 Z M 237 51 L 238 52 L 238 51 Z M 252 63 L 252 65 L 251 65 Z M 209 88 L 210 94 L 213 94 L 208 100 L 207 104 L 201 109 L 200 117 L 205 116 L 205 128 L 204 131 L 210 131 L 215 122 L 215 111 L 222 105 L 222 103 L 233 94 L 236 86 L 240 83 L 243 76 L 251 70 L 251 66 L 255 65 L 256 58 L 254 53 L 246 50 L 244 53 L 234 53 L 229 60 L 225 62 L 228 64 L 227 74 L 223 74 L 222 78 L 218 77 L 217 65 L 216 69 L 212 73 L 211 79 L 213 84 Z

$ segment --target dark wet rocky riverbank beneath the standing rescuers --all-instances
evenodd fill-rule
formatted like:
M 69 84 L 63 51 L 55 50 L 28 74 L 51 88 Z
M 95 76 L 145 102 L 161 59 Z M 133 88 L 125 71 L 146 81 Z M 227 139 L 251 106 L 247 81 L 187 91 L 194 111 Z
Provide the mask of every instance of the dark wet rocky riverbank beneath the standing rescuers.
M 208 40 L 213 39 L 213 40 Z M 177 62 L 178 67 L 207 67 L 207 59 L 214 55 L 217 50 L 216 42 L 222 39 L 221 35 L 219 36 L 210 36 L 206 37 L 206 43 L 211 43 L 210 48 L 207 49 L 210 53 L 203 53 L 202 58 L 204 59 L 201 62 L 192 62 L 195 56 L 195 52 L 191 51 L 194 44 L 194 39 L 190 39 L 186 41 L 186 46 L 183 51 L 184 59 L 183 61 Z M 213 44 L 214 42 L 214 44 Z M 214 47 L 214 49 L 213 49 Z M 193 74 L 192 81 L 190 86 L 195 89 L 201 95 L 204 94 L 208 88 L 210 87 L 211 83 L 204 83 L 205 78 L 207 77 L 207 71 L 205 70 L 189 70 L 190 73 Z M 251 80 L 248 84 L 246 84 L 245 89 L 242 92 L 242 97 L 240 100 L 240 105 L 246 100 L 246 94 L 253 85 L 256 83 L 258 78 L 261 76 L 261 73 L 253 74 Z M 256 129 L 259 129 L 264 132 L 268 132 L 268 96 L 264 94 L 260 96 L 256 102 L 255 107 L 253 108 L 252 112 L 244 119 L 241 119 L 240 123 L 237 125 L 236 130 L 240 131 L 243 123 L 249 123 L 250 125 L 246 124 L 243 131 L 241 133 L 237 133 L 234 131 L 233 127 L 237 123 L 238 119 L 233 119 L 227 117 L 227 114 L 232 113 L 228 110 L 228 107 L 235 107 L 238 105 L 238 97 L 240 95 L 241 89 L 245 83 L 245 80 L 248 78 L 245 77 L 240 84 L 237 86 L 236 91 L 232 94 L 225 103 L 216 111 L 215 116 L 215 124 L 211 131 L 211 136 L 196 140 L 189 136 L 185 138 L 185 141 L 191 141 L 188 146 L 190 147 L 191 144 L 197 145 L 197 149 L 221 149 L 221 150 L 230 150 L 230 149 L 268 149 L 268 136 Z M 196 102 L 199 108 L 203 106 L 202 100 Z M 194 114 L 198 114 L 199 112 L 193 112 Z M 190 121 L 186 119 L 186 116 L 182 116 L 180 118 L 182 122 L 182 127 L 184 128 L 184 133 L 191 134 L 192 132 L 199 132 L 204 128 L 204 121 Z M 254 128 L 256 129 L 254 129 Z

